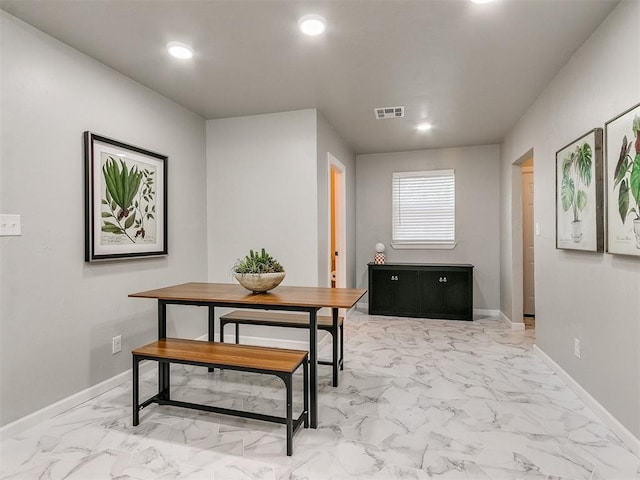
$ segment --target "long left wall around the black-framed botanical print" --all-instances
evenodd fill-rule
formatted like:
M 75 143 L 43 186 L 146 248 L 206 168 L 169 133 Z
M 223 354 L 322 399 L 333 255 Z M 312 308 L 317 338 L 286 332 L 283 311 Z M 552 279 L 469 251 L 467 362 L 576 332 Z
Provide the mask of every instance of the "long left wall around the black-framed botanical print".
M 0 48 L 0 209 L 22 216 L 21 236 L 0 237 L 6 425 L 131 367 L 157 313 L 129 293 L 206 279 L 206 164 L 193 113 L 1 11 Z M 84 262 L 85 130 L 169 157 L 168 256 Z M 201 335 L 206 312 L 176 330 Z

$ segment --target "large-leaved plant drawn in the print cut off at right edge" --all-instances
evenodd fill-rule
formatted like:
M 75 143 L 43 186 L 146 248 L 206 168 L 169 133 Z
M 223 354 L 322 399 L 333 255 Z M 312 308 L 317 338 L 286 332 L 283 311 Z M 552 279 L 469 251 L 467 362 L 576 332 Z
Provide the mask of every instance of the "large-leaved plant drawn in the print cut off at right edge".
M 635 139 L 627 142 L 626 135 L 622 139 L 620 157 L 614 171 L 613 188 L 620 187 L 618 213 L 622 223 L 625 223 L 629 215 L 634 215 L 633 232 L 636 235 L 636 247 L 640 248 L 640 117 L 637 115 L 633 119 L 632 128 Z M 635 156 L 631 153 L 632 145 Z

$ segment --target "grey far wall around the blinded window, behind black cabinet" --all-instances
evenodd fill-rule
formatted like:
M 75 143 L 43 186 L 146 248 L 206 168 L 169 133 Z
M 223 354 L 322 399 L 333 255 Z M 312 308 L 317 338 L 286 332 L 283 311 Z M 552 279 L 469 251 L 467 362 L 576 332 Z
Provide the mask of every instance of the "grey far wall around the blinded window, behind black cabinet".
M 367 288 L 367 263 L 382 242 L 387 262 L 470 263 L 475 266 L 476 309 L 500 305 L 500 149 L 482 147 L 418 150 L 356 157 L 357 286 Z M 456 175 L 456 242 L 453 250 L 394 250 L 391 247 L 393 172 L 453 168 Z

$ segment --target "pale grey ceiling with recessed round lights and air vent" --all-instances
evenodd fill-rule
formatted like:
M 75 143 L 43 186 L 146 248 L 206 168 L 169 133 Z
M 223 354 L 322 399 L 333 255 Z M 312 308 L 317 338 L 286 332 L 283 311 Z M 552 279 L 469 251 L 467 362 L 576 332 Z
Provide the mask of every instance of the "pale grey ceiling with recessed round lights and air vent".
M 205 119 L 318 108 L 356 153 L 498 143 L 619 0 L 0 0 Z M 307 13 L 328 22 L 306 37 Z M 165 44 L 188 43 L 178 61 Z M 403 105 L 405 118 L 376 120 Z M 413 127 L 428 120 L 434 128 Z

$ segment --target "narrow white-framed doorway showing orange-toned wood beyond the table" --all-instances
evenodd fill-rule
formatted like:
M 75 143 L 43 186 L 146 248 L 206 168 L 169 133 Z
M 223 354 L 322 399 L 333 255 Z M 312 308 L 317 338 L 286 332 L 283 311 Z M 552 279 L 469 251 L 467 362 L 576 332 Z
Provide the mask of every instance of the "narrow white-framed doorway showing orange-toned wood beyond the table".
M 345 167 L 330 153 L 329 164 L 329 279 L 331 287 L 347 286 Z

